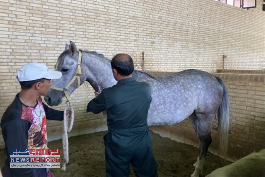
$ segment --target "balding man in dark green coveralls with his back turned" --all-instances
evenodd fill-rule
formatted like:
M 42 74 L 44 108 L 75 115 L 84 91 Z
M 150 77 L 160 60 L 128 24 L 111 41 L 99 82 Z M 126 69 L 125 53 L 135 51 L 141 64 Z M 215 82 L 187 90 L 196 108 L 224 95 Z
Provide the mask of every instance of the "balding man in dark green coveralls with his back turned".
M 129 176 L 130 163 L 137 176 L 158 176 L 147 114 L 152 101 L 148 83 L 132 77 L 130 55 L 120 53 L 111 60 L 117 84 L 96 92 L 87 112 L 107 110 L 105 142 L 106 176 Z

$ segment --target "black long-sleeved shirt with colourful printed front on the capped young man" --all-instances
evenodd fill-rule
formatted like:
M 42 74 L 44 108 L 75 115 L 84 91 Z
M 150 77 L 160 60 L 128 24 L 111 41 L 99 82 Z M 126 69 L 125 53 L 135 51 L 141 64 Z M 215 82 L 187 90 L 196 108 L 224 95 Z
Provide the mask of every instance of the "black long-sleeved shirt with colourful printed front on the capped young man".
M 19 94 L 7 107 L 0 126 L 5 142 L 5 163 L 10 167 L 10 149 L 47 149 L 46 119 L 63 120 L 63 111 L 49 108 L 39 97 L 34 107 L 24 105 Z M 10 168 L 13 176 L 33 176 L 31 168 Z

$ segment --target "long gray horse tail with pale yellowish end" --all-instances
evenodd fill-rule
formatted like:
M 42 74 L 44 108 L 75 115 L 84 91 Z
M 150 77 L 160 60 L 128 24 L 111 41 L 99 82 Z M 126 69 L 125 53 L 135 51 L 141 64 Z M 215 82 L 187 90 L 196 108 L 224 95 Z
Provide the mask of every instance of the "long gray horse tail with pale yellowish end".
M 226 158 L 227 147 L 228 147 L 228 131 L 229 131 L 229 98 L 228 98 L 228 91 L 221 80 L 221 78 L 216 77 L 217 81 L 223 87 L 223 98 L 221 104 L 218 108 L 218 130 L 220 133 L 220 141 L 219 141 L 219 149 L 220 155 L 223 158 Z

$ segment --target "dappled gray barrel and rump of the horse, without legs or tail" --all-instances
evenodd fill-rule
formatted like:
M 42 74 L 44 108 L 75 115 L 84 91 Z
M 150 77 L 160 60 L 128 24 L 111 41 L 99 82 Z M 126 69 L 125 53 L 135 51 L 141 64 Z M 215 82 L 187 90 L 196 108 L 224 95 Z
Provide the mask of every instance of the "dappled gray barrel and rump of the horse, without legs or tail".
M 195 110 L 215 112 L 223 94 L 216 77 L 205 71 L 190 69 L 164 76 L 141 72 L 133 76 L 151 86 L 150 125 L 178 123 Z

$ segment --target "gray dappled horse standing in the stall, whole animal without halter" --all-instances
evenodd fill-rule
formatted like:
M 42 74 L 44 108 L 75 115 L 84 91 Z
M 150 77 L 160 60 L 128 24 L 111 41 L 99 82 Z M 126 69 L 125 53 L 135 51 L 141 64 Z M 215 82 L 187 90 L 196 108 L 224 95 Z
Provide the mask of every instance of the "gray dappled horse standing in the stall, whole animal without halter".
M 82 52 L 80 61 L 80 84 L 89 82 L 95 91 L 111 87 L 117 83 L 112 75 L 110 60 L 96 52 Z M 77 73 L 79 52 L 74 42 L 66 45 L 59 56 L 56 71 L 62 72 L 62 78 L 52 80 L 52 85 L 59 88 L 67 86 L 70 94 L 77 88 L 77 80 L 68 84 Z M 81 56 L 81 55 L 80 55 Z M 192 127 L 199 138 L 200 154 L 193 164 L 195 171 L 191 176 L 199 176 L 211 144 L 211 122 L 218 111 L 218 127 L 220 131 L 221 155 L 225 156 L 228 145 L 229 100 L 223 81 L 200 70 L 185 70 L 165 76 L 152 76 L 143 71 L 134 70 L 133 77 L 137 81 L 150 84 L 152 102 L 148 112 L 148 125 L 172 125 L 190 118 Z M 49 89 L 44 97 L 50 106 L 62 102 L 64 92 Z

